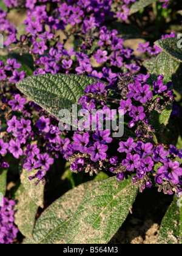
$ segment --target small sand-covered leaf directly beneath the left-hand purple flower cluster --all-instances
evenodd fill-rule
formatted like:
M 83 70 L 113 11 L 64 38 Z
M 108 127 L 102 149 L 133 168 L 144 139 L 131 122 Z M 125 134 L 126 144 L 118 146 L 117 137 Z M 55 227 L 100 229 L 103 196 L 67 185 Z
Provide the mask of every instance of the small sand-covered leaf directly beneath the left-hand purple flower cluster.
M 34 180 L 29 180 L 29 177 L 34 176 L 36 172 L 37 171 L 27 172 L 27 169 L 22 169 L 20 179 L 32 201 L 39 207 L 44 208 L 44 185 L 42 182 L 39 182 L 36 186 Z

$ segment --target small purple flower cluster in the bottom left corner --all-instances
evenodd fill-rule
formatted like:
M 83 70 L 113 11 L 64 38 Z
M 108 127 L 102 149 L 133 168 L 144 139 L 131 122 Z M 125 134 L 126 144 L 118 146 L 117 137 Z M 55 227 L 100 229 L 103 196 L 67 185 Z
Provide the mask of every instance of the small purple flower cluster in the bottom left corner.
M 16 238 L 18 228 L 13 223 L 15 221 L 15 201 L 6 199 L 3 200 L 3 207 L 0 207 L 0 244 L 10 244 Z

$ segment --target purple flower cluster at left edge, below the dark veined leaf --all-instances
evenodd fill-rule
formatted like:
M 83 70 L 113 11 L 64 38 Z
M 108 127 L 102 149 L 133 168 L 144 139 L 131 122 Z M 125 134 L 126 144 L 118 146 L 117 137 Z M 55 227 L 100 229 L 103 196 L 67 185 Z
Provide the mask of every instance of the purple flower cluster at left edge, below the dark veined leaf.
M 15 94 L 15 99 L 8 101 L 8 105 L 16 110 L 15 113 L 23 112 L 24 118 L 13 115 L 8 119 L 7 133 L 4 139 L 0 139 L 0 166 L 1 168 L 9 167 L 5 162 L 7 154 L 12 154 L 16 159 L 23 157 L 22 167 L 29 172 L 36 170 L 35 176 L 30 176 L 30 179 L 36 178 L 37 185 L 40 181 L 45 182 L 45 172 L 49 171 L 50 165 L 53 165 L 54 157 L 58 158 L 64 153 L 70 140 L 61 138 L 58 121 L 55 118 L 52 116 L 45 118 L 45 112 L 36 104 L 25 103 L 26 99 L 21 98 L 20 94 Z M 7 108 L 8 105 L 6 105 Z M 41 115 L 38 121 L 33 118 L 30 111 L 32 107 L 37 108 Z M 5 118 L 4 111 L 1 113 L 2 118 Z

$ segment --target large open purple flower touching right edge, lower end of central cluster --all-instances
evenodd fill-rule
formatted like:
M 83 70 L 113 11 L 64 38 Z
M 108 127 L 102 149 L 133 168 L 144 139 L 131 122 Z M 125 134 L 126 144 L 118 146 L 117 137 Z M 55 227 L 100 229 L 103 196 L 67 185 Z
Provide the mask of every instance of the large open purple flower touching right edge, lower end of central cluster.
M 158 174 L 161 174 L 161 177 L 165 178 L 167 181 L 171 180 L 172 183 L 178 184 L 179 177 L 182 176 L 182 168 L 180 168 L 180 163 L 172 160 L 168 160 L 167 163 L 164 163 L 164 166 L 161 166 L 157 170 Z

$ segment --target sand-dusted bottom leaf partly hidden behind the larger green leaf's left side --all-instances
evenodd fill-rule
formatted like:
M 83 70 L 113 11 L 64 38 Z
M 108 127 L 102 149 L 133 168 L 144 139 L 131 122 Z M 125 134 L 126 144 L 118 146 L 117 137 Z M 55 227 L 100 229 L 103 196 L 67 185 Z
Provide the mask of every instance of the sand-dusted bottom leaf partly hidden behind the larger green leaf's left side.
M 79 203 L 92 190 L 98 181 L 79 185 L 53 202 L 36 221 L 33 239 L 27 238 L 25 244 L 62 244 L 70 220 Z

